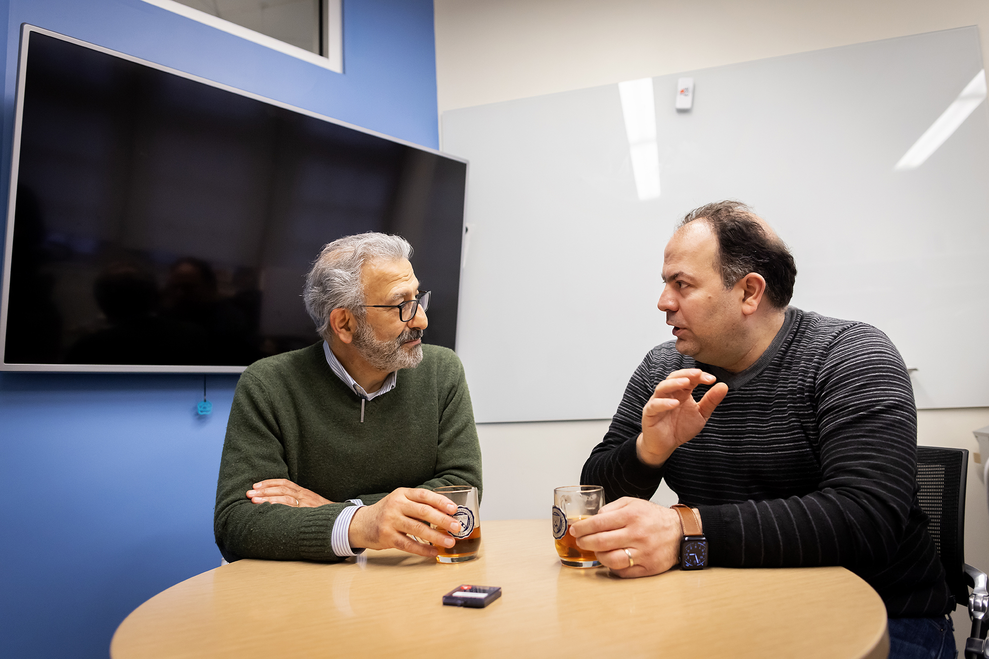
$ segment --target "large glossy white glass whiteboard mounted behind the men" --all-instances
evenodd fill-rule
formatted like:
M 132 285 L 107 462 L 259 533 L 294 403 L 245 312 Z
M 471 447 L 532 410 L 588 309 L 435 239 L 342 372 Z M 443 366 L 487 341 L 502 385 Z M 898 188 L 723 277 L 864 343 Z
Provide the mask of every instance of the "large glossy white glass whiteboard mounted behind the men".
M 653 78 L 646 201 L 618 85 L 444 113 L 443 149 L 471 163 L 457 351 L 477 421 L 610 417 L 673 338 L 656 303 L 676 221 L 722 199 L 790 246 L 793 305 L 892 339 L 919 407 L 989 405 L 986 103 L 894 171 L 981 67 L 961 28 Z

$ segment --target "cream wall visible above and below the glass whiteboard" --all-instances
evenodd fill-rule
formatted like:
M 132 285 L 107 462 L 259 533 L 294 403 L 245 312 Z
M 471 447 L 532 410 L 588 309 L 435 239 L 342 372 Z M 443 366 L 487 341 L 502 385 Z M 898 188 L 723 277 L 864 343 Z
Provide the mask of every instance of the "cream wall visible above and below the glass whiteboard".
M 969 25 L 980 26 L 983 57 L 989 52 L 984 0 L 434 0 L 434 8 L 441 116 L 455 108 Z M 975 453 L 971 431 L 989 425 L 989 408 L 923 410 L 918 417 L 920 444 Z M 483 517 L 547 517 L 552 488 L 579 479 L 606 427 L 603 421 L 480 426 Z M 668 503 L 670 494 L 660 492 L 655 500 Z M 966 558 L 985 570 L 989 512 L 974 460 L 965 524 Z M 959 612 L 954 619 L 967 629 L 967 617 Z

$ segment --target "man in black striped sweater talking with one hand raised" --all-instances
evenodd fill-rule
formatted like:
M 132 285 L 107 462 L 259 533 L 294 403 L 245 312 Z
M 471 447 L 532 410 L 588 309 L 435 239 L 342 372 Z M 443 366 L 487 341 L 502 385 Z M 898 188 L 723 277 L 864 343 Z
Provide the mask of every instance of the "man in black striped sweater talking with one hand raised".
M 843 565 L 885 603 L 890 657 L 953 657 L 903 360 L 874 327 L 788 306 L 795 278 L 747 206 L 684 217 L 658 305 L 676 339 L 632 374 L 581 480 L 611 503 L 570 533 L 623 577 L 669 570 L 688 522 L 648 501 L 665 478 L 699 515 L 709 565 Z

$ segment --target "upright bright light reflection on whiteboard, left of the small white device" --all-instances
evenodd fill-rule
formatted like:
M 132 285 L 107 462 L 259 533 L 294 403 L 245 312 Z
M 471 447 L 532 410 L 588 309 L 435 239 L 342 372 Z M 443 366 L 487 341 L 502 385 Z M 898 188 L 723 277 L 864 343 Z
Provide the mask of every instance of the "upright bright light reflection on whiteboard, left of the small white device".
M 656 144 L 656 103 L 653 79 L 618 83 L 632 176 L 640 201 L 660 196 L 660 151 Z

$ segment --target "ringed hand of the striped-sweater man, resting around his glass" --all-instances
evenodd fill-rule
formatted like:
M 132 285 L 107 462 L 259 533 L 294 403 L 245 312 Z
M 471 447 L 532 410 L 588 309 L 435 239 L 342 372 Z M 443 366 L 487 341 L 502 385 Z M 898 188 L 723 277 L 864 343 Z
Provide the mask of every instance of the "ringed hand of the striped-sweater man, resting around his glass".
M 632 497 L 622 497 L 576 522 L 568 531 L 577 546 L 620 577 L 647 577 L 666 572 L 679 560 L 683 527 L 674 510 Z M 629 553 L 635 565 L 629 566 Z

